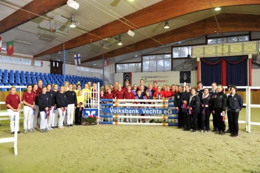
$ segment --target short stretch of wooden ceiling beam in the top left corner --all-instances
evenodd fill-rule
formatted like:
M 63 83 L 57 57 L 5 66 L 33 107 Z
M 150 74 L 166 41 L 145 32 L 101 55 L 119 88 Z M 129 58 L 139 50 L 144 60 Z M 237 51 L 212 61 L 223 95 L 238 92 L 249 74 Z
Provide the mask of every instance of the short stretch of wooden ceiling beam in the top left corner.
M 26 11 L 18 9 L 0 21 L 0 34 L 27 21 L 30 21 L 38 17 L 38 15 L 43 15 L 60 6 L 63 6 L 66 4 L 66 2 L 67 0 L 32 0 L 28 4 L 21 7 Z M 30 11 L 32 13 L 27 11 Z

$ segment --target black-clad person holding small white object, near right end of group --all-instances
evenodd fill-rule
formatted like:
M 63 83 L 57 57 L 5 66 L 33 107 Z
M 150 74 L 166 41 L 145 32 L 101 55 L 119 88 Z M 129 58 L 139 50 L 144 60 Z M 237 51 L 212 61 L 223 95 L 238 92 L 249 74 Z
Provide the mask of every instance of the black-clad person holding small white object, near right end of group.
M 218 134 L 225 134 L 225 113 L 227 108 L 227 95 L 223 93 L 223 86 L 218 85 L 218 94 L 214 98 L 213 113 L 217 118 Z

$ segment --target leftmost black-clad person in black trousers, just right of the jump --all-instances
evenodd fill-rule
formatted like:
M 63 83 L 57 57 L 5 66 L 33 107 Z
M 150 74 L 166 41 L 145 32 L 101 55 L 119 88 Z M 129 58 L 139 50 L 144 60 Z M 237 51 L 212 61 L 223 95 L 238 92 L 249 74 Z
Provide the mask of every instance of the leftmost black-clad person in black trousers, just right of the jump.
M 176 85 L 175 85 L 176 86 Z M 181 86 L 177 86 L 178 87 L 178 92 L 175 93 L 175 96 L 174 97 L 174 106 L 176 107 L 176 110 L 178 111 L 178 128 L 183 128 L 184 125 L 183 125 L 183 112 L 182 112 L 182 109 L 181 109 L 181 105 L 182 105 L 182 102 L 181 102 L 181 96 L 182 96 L 182 92 L 183 92 L 183 89 Z

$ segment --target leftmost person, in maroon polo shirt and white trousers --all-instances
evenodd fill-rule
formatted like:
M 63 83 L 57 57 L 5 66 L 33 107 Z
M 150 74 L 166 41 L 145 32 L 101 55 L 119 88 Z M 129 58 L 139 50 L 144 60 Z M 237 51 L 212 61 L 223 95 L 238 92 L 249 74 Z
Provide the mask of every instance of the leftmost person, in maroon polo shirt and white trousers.
M 7 107 L 7 112 L 14 113 L 13 115 L 9 115 L 11 134 L 14 134 L 15 114 L 19 114 L 19 110 L 20 110 L 20 98 L 16 94 L 16 88 L 14 86 L 10 88 L 10 94 L 6 96 L 5 104 Z M 19 116 L 16 116 L 16 118 L 18 118 L 18 122 L 19 122 Z M 16 127 L 18 131 L 17 133 L 20 133 L 19 123 L 16 124 Z

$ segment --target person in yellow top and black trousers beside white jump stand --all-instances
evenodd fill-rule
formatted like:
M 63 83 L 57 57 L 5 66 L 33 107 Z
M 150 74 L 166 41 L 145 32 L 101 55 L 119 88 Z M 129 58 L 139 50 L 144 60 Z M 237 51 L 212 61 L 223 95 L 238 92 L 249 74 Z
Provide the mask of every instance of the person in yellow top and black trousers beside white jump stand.
M 82 113 L 83 113 L 83 109 L 84 109 L 84 102 L 85 102 L 85 98 L 82 95 L 82 90 L 80 90 L 78 92 L 78 96 L 77 96 L 77 108 L 75 111 L 75 125 L 81 125 L 82 124 Z

